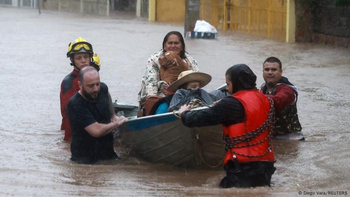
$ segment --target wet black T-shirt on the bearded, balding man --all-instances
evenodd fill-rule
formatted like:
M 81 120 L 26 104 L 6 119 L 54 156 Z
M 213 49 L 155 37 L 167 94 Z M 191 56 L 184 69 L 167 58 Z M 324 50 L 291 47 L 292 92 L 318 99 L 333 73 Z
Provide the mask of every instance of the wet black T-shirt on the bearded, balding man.
M 68 101 L 68 117 L 72 131 L 70 143 L 71 160 L 92 163 L 115 156 L 113 134 L 91 136 L 84 128 L 94 122 L 109 123 L 108 88 L 100 83 L 100 91 L 94 102 L 84 99 L 76 92 Z

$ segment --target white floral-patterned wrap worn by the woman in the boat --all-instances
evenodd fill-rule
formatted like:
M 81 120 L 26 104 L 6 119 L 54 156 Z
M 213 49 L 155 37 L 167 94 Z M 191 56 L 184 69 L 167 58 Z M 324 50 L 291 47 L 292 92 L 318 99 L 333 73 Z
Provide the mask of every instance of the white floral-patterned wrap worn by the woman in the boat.
M 165 96 L 162 90 L 159 90 L 161 84 L 166 83 L 160 80 L 158 57 L 163 52 L 162 49 L 150 55 L 147 61 L 147 65 L 144 71 L 144 75 L 141 80 L 141 89 L 137 94 L 137 101 L 143 101 L 149 95 Z M 197 72 L 198 64 L 191 56 L 185 53 L 185 58 L 182 58 L 186 62 L 189 62 L 189 69 Z

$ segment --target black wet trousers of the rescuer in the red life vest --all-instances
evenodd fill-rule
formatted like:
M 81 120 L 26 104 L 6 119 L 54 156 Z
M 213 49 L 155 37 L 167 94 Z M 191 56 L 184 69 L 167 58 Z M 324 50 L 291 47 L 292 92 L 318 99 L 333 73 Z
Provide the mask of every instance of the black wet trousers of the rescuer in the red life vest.
M 237 170 L 234 162 L 229 160 L 224 169 L 226 176 L 219 184 L 222 188 L 270 186 L 271 176 L 276 168 L 273 166 L 273 162 L 252 161 L 239 163 Z

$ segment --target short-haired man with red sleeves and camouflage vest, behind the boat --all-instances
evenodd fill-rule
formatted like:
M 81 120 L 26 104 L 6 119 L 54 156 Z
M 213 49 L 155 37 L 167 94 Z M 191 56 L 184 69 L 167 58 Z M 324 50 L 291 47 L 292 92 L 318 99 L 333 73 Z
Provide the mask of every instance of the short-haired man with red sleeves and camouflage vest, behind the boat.
M 305 140 L 296 109 L 297 88 L 282 72 L 282 63 L 276 57 L 268 57 L 262 64 L 265 83 L 260 89 L 272 98 L 276 110 L 273 138 Z

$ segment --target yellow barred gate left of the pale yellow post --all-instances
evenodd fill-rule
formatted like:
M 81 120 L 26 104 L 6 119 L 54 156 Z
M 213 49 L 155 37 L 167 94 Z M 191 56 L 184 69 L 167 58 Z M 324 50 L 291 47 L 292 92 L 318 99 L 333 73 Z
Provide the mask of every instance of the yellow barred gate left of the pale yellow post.
M 285 40 L 287 0 L 225 0 L 223 30 Z

